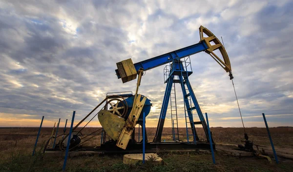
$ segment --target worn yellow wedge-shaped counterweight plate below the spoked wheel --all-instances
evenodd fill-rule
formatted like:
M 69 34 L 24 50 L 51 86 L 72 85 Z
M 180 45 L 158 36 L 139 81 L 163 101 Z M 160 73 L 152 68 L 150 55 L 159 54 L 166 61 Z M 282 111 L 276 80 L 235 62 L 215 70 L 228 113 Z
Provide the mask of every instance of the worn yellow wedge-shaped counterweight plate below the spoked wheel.
M 118 140 L 123 127 L 125 126 L 125 119 L 118 115 L 114 115 L 106 110 L 101 110 L 98 113 L 98 118 L 103 126 L 105 132 L 113 139 Z

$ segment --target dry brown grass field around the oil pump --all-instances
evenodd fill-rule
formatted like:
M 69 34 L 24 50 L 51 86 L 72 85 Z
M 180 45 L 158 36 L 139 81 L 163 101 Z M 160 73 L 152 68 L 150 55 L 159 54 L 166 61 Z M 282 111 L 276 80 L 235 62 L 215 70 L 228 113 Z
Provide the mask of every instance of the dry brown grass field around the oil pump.
M 95 128 L 85 128 L 83 134 L 95 131 Z M 68 131 L 68 130 L 67 130 Z M 293 146 L 293 128 L 277 127 L 270 129 L 272 139 L 276 147 Z M 38 142 L 37 154 L 32 157 L 38 128 L 0 128 L 0 172 L 60 172 L 63 165 L 63 158 L 44 157 L 41 160 L 41 148 L 44 142 L 50 137 L 52 128 L 42 128 Z M 240 144 L 243 138 L 242 128 L 211 128 L 213 139 L 217 144 Z M 247 128 L 246 132 L 250 140 L 258 145 L 270 145 L 265 128 Z M 62 129 L 59 130 L 62 134 Z M 136 133 L 138 133 L 136 131 Z M 147 128 L 148 140 L 152 141 L 155 128 Z M 186 140 L 186 130 L 180 128 L 180 139 Z M 197 133 L 200 139 L 205 139 L 203 130 L 198 128 Z M 138 137 L 138 134 L 136 135 Z M 87 142 L 88 146 L 99 146 L 101 135 L 96 135 Z M 162 141 L 170 141 L 171 128 L 165 128 Z M 124 165 L 122 155 L 116 156 L 82 156 L 68 159 L 67 171 L 70 172 L 140 172 L 140 171 L 172 171 L 172 172 L 193 172 L 193 171 L 272 171 L 292 172 L 293 161 L 281 159 L 281 163 L 269 164 L 265 159 L 257 157 L 237 158 L 224 156 L 216 153 L 216 165 L 212 164 L 210 154 L 196 153 L 168 153 L 160 154 L 164 165 L 136 164 Z

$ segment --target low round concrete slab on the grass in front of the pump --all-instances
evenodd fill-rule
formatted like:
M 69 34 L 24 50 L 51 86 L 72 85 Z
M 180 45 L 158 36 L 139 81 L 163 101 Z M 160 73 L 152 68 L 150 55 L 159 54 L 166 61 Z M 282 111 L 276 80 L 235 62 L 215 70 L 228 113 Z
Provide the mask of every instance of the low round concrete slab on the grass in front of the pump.
M 157 153 L 145 153 L 145 160 L 151 160 L 154 164 L 162 163 L 163 159 L 157 155 Z M 125 154 L 123 156 L 123 163 L 124 164 L 135 164 L 137 162 L 143 161 L 143 153 L 137 154 Z

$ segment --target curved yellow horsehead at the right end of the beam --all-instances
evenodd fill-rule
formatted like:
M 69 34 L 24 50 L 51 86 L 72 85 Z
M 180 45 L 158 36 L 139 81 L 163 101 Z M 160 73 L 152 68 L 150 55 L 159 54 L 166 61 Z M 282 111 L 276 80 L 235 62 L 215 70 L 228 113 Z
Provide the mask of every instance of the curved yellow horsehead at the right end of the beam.
M 204 34 L 206 34 L 208 37 L 204 37 Z M 228 54 L 225 50 L 225 47 L 223 44 L 220 42 L 220 40 L 213 35 L 209 31 L 209 29 L 205 28 L 204 26 L 199 27 L 199 36 L 200 36 L 200 41 L 205 41 L 205 43 L 208 46 L 208 49 L 206 50 L 206 53 L 208 53 L 214 60 L 216 60 L 220 66 L 222 66 L 226 72 L 231 71 L 231 64 L 230 64 L 230 59 L 228 57 Z M 214 45 L 211 45 L 210 42 L 213 42 Z M 221 55 L 224 59 L 221 60 L 213 51 L 219 49 L 221 52 Z

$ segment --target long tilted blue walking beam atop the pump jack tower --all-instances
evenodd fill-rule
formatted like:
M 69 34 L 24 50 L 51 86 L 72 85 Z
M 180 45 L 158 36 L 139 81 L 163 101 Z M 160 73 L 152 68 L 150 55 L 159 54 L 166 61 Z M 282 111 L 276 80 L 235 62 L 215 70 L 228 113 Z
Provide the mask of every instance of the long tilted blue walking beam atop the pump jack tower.
M 134 63 L 134 67 L 136 71 L 138 71 L 140 68 L 143 68 L 144 71 L 147 71 L 149 69 L 167 64 L 170 61 L 173 61 L 174 59 L 188 57 L 196 53 L 205 51 L 206 49 L 208 49 L 206 43 L 204 41 L 201 41 L 199 43 L 190 45 L 185 48 L 181 48 L 179 50 L 175 50 L 157 57 L 149 58 L 141 62 Z M 116 70 L 116 74 L 118 78 L 121 78 L 118 70 Z

